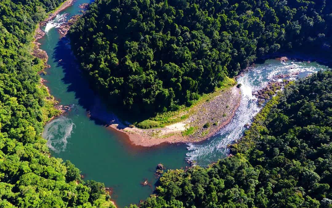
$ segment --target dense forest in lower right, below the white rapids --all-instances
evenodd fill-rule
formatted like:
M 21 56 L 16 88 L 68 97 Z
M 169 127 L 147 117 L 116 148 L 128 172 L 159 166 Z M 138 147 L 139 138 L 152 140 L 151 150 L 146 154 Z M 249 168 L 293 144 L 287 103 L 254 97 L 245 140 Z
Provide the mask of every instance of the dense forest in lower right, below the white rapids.
M 234 156 L 169 170 L 141 207 L 331 208 L 331 138 L 332 72 L 319 72 L 274 97 Z

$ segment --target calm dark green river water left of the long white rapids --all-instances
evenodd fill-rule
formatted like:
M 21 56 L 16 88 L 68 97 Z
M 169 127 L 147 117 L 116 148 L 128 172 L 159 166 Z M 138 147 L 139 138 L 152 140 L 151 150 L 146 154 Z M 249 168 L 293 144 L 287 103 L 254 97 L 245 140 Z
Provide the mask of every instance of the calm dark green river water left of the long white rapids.
M 78 14 L 78 5 L 84 2 L 88 1 L 77 0 L 60 14 Z M 55 23 L 58 19 L 61 17 L 58 16 Z M 47 75 L 42 78 L 47 80 L 46 86 L 51 95 L 60 100 L 60 104 L 74 104 L 69 113 L 45 126 L 43 137 L 48 139 L 52 156 L 70 160 L 82 171 L 85 180 L 93 179 L 113 187 L 112 199 L 119 207 L 139 203 L 139 200 L 146 199 L 152 193 L 158 163 L 172 169 L 188 165 L 185 162 L 185 145 L 135 148 L 123 136 L 112 132 L 98 120 L 89 118 L 89 110 L 102 116 L 108 114 L 101 109 L 103 106 L 99 104 L 98 97 L 81 76 L 68 41 L 59 40 L 56 28 L 52 28 L 39 42 L 42 44 L 40 48 L 49 56 L 51 68 L 46 70 Z M 58 63 L 60 59 L 62 61 Z M 140 185 L 144 178 L 152 182 L 152 187 Z

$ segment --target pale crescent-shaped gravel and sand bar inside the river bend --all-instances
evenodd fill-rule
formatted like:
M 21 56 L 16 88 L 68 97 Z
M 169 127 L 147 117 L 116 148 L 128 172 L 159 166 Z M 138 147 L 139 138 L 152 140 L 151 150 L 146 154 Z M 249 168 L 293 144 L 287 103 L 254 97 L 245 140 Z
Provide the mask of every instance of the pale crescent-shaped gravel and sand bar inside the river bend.
M 211 137 L 228 124 L 239 107 L 240 100 L 240 89 L 235 86 L 227 87 L 215 92 L 214 96 L 204 102 L 192 106 L 189 109 L 190 112 L 184 112 L 184 114 L 188 113 L 188 118 L 165 127 L 150 129 L 130 127 L 122 123 L 115 115 L 105 122 L 109 123 L 109 127 L 126 134 L 135 145 L 150 147 L 164 142 L 198 142 Z M 93 112 L 90 112 L 89 116 L 100 117 Z

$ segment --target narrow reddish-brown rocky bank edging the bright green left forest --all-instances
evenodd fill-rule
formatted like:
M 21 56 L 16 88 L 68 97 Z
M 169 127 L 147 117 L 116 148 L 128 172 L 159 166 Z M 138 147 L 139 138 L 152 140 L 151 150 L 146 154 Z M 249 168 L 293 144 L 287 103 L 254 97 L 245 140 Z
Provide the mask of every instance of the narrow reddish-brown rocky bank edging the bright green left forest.
M 56 17 L 56 15 L 58 14 L 58 13 L 60 13 L 61 11 L 63 11 L 63 10 L 65 10 L 66 8 L 68 8 L 68 7 L 70 7 L 70 6 L 72 6 L 73 5 L 73 3 L 75 2 L 76 0 L 66 0 L 66 1 L 64 1 L 63 3 L 61 3 L 56 9 L 54 9 L 53 11 L 51 11 L 51 12 L 49 12 L 48 13 L 48 17 L 45 19 L 45 20 L 43 20 L 43 21 L 41 21 L 38 25 L 37 25 L 37 28 L 36 28 L 36 30 L 35 30 L 35 32 L 33 33 L 34 35 L 33 35 L 33 41 L 32 41 L 32 45 L 33 45 L 33 48 L 32 48 L 32 50 L 34 51 L 35 49 L 37 49 L 38 51 L 41 51 L 43 54 L 45 54 L 46 55 L 46 59 L 41 59 L 42 61 L 43 61 L 43 63 L 44 63 L 44 66 L 45 66 L 45 68 L 44 69 L 46 69 L 46 68 L 50 68 L 50 66 L 49 65 L 47 65 L 46 63 L 47 63 L 47 60 L 48 60 L 48 55 L 47 55 L 47 53 L 46 53 L 46 51 L 43 51 L 43 50 L 41 50 L 40 48 L 39 48 L 39 46 L 41 45 L 40 43 L 38 43 L 38 40 L 39 39 L 41 39 L 41 38 L 43 38 L 44 36 L 45 36 L 45 32 L 44 31 L 42 31 L 42 29 L 41 29 L 41 27 L 43 26 L 43 23 L 47 23 L 48 21 L 50 21 L 50 20 L 52 20 L 53 18 L 55 18 Z M 35 56 L 34 54 L 32 54 L 33 56 Z M 35 56 L 36 58 L 39 58 L 39 57 L 37 57 L 37 56 Z M 43 69 L 43 70 L 44 70 Z M 43 70 L 41 71 L 41 72 L 38 72 L 38 74 L 40 74 L 40 73 L 42 73 L 43 72 Z M 45 124 L 46 123 L 48 123 L 48 122 L 50 122 L 52 119 L 54 119 L 55 117 L 58 117 L 58 116 L 60 116 L 60 115 L 62 115 L 66 110 L 64 110 L 64 109 L 57 109 L 56 107 L 55 107 L 55 105 L 58 103 L 58 101 L 56 101 L 55 99 L 54 99 L 54 97 L 50 94 L 50 92 L 49 92 L 49 89 L 48 89 L 48 87 L 44 84 L 45 82 L 47 82 L 45 79 L 40 79 L 40 86 L 41 87 L 44 87 L 45 89 L 46 89 L 46 91 L 47 91 L 47 96 L 45 96 L 45 100 L 46 101 L 48 101 L 48 102 L 52 102 L 53 103 L 53 109 L 54 110 L 57 110 L 58 111 L 58 113 L 56 114 L 56 115 L 54 115 L 54 116 L 52 116 L 52 117 L 48 117 L 47 115 L 47 121 L 45 122 Z M 48 99 L 49 98 L 49 99 Z M 50 157 L 50 154 L 48 154 L 48 158 Z M 116 205 L 116 203 L 115 203 L 115 201 L 114 200 L 109 200 L 109 202 L 114 206 L 114 207 L 116 207 L 117 208 L 117 205 Z

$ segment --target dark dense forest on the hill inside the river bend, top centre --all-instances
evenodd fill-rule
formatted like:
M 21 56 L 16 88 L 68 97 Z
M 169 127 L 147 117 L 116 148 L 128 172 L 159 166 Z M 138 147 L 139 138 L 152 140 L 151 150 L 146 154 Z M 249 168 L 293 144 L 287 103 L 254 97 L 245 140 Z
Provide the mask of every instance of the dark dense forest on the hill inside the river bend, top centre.
M 325 0 L 96 0 L 72 27 L 92 86 L 131 112 L 191 105 L 257 58 L 331 52 Z

